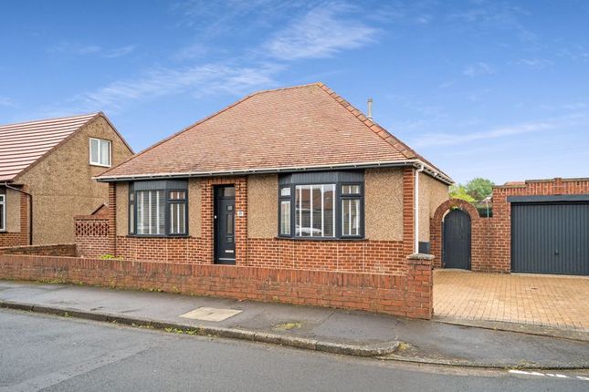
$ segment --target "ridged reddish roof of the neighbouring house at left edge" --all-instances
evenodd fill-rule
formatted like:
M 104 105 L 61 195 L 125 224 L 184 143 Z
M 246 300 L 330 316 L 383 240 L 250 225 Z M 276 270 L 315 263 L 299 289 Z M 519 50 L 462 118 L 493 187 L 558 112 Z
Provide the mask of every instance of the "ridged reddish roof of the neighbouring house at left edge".
M 99 113 L 0 125 L 0 181 L 11 181 Z

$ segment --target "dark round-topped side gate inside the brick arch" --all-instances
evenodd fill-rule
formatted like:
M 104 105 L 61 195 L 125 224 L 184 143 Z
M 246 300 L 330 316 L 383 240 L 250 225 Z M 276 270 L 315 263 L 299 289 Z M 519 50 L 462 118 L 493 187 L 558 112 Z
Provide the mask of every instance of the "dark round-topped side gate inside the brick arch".
M 444 268 L 470 269 L 470 216 L 462 210 L 449 211 L 444 218 Z

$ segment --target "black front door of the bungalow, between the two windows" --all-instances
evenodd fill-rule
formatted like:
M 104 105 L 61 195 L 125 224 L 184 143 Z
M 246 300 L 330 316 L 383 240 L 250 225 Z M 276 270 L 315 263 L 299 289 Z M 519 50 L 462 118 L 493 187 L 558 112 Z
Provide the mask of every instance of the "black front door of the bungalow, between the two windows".
M 236 263 L 236 189 L 215 187 L 215 263 Z

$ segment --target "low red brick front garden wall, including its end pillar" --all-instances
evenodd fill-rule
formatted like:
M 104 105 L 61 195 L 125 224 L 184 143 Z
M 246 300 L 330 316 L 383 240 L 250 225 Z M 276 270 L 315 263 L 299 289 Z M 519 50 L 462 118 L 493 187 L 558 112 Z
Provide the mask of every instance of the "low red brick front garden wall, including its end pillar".
M 430 318 L 431 262 L 405 274 L 340 273 L 213 264 L 0 255 L 0 278 L 213 295 Z

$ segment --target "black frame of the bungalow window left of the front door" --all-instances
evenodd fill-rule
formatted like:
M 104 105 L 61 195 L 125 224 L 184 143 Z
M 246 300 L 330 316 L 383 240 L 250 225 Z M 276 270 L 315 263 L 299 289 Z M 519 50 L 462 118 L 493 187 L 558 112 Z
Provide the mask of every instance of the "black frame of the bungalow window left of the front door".
M 137 194 L 142 191 L 163 191 L 165 195 L 164 201 L 164 233 L 162 234 L 140 234 L 137 233 Z M 185 198 L 178 199 L 178 193 L 175 193 L 174 198 L 171 197 L 174 192 L 184 192 Z M 132 237 L 188 237 L 188 181 L 182 180 L 168 180 L 168 181 L 135 181 L 129 183 L 128 196 L 128 235 Z M 172 233 L 172 217 L 170 213 L 170 206 L 173 204 L 184 204 L 184 233 Z

